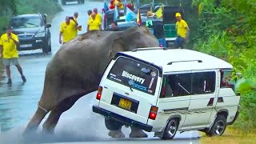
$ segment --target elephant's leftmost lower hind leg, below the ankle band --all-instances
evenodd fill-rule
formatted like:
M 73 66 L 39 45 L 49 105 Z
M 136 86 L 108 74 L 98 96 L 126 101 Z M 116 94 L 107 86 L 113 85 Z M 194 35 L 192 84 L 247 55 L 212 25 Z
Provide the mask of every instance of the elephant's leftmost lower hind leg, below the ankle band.
M 40 124 L 42 122 L 42 118 L 45 118 L 46 114 L 48 113 L 47 110 L 42 109 L 41 106 L 38 105 L 38 109 L 35 112 L 33 118 L 30 120 L 28 125 L 26 126 L 25 131 L 23 132 L 23 135 L 30 135 L 31 133 L 34 133 Z

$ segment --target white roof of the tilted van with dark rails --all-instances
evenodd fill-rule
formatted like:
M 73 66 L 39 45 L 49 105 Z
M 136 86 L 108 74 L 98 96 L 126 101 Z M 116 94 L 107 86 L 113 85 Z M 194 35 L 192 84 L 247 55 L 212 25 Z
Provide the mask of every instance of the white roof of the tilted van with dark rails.
M 121 52 L 162 66 L 163 73 L 186 70 L 232 69 L 230 63 L 209 54 L 186 49 L 148 48 Z

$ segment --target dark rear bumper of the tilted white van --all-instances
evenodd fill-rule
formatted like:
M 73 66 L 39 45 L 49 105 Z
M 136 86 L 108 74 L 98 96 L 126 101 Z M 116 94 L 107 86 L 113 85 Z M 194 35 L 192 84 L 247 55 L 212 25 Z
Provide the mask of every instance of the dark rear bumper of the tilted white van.
M 138 127 L 140 129 L 146 130 L 148 132 L 152 131 L 152 129 L 153 129 L 153 126 L 143 124 L 142 122 L 134 121 L 130 118 L 123 117 L 122 115 L 119 115 L 119 114 L 114 114 L 113 112 L 110 112 L 109 110 L 104 110 L 96 105 L 93 106 L 93 111 L 94 111 L 94 113 L 102 114 L 102 115 L 106 116 L 107 118 L 113 118 L 114 120 L 123 122 L 125 125 Z

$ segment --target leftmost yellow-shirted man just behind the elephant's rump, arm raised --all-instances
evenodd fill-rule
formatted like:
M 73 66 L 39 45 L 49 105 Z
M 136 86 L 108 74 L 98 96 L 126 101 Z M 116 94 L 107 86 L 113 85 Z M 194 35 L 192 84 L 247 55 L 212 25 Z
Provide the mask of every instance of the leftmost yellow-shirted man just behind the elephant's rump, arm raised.
M 70 22 L 70 19 L 73 22 Z M 62 22 L 60 32 L 59 32 L 59 43 L 63 44 L 69 42 L 71 39 L 75 38 L 75 34 L 78 30 L 78 22 L 74 20 L 73 17 L 66 16 L 66 21 Z

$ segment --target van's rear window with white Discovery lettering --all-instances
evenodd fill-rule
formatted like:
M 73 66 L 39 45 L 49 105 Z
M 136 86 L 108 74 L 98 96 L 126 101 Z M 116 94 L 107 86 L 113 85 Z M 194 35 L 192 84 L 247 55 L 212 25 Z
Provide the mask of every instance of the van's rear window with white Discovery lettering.
M 154 95 L 158 74 L 158 70 L 153 66 L 130 58 L 119 57 L 107 78 L 129 86 L 131 90 L 136 89 Z

